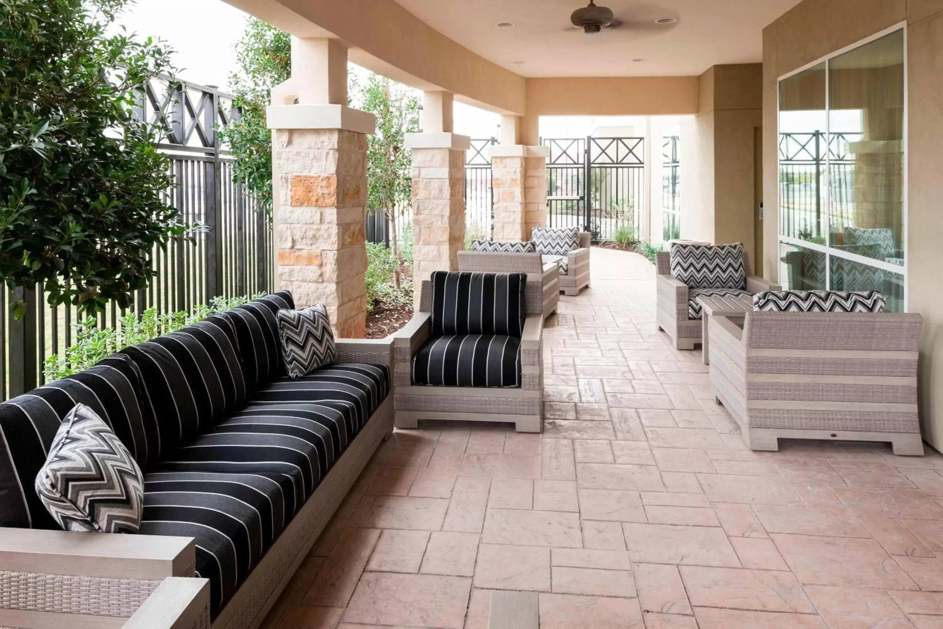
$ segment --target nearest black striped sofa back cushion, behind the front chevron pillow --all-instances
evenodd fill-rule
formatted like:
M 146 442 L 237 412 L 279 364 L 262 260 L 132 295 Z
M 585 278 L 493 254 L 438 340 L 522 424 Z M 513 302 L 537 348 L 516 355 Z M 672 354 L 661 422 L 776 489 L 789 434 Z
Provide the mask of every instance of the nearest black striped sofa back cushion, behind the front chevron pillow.
M 141 374 L 116 354 L 85 372 L 0 404 L 0 526 L 58 529 L 33 481 L 45 463 L 59 424 L 76 404 L 89 406 L 141 468 L 157 460 L 153 411 L 141 400 Z

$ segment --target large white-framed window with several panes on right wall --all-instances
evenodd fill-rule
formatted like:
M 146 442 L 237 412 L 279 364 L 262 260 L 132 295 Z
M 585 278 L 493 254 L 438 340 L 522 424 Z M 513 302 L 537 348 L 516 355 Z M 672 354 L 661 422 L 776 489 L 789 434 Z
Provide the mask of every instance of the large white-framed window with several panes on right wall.
M 780 282 L 880 290 L 906 276 L 904 31 L 779 82 Z

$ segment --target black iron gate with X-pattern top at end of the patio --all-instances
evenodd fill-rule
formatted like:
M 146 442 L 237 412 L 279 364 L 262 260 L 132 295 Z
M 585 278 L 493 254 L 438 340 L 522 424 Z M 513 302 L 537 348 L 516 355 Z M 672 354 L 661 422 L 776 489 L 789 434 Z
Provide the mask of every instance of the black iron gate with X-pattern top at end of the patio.
M 620 227 L 641 232 L 645 200 L 644 138 L 544 138 L 547 224 L 578 226 L 593 240 L 612 240 Z

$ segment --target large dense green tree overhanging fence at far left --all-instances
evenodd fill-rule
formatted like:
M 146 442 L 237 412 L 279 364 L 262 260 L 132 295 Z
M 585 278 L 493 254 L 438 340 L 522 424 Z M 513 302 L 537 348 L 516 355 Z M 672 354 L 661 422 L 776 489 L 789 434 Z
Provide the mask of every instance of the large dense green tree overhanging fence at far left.
M 186 231 L 157 129 L 132 116 L 169 51 L 107 34 L 126 4 L 0 0 L 0 278 L 85 312 L 129 306 Z

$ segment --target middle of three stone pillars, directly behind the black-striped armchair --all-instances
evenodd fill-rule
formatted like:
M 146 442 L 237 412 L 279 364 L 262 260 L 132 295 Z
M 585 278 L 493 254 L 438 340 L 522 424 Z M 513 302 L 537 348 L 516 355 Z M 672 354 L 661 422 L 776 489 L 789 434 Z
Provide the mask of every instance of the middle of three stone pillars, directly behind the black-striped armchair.
M 457 271 L 465 248 L 465 151 L 468 136 L 455 133 L 406 134 L 412 151 L 414 305 L 422 280 L 433 271 Z

